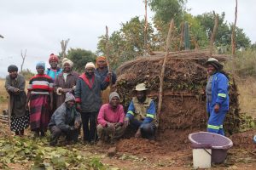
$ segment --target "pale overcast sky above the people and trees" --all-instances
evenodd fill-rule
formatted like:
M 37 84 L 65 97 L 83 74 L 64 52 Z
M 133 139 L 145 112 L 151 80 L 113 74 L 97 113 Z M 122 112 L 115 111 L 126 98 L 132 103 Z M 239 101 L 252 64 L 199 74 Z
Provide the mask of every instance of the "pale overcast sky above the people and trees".
M 215 10 L 234 21 L 235 0 L 189 0 L 191 14 Z M 67 48 L 96 51 L 98 37 L 111 32 L 134 16 L 143 18 L 143 0 L 0 0 L 0 77 L 7 66 L 20 68 L 20 50 L 27 50 L 25 68 L 35 71 L 39 60 L 48 63 L 49 54 L 61 51 L 62 39 L 70 38 Z M 149 17 L 153 16 L 148 12 Z M 253 0 L 238 1 L 237 26 L 256 42 L 256 5 Z

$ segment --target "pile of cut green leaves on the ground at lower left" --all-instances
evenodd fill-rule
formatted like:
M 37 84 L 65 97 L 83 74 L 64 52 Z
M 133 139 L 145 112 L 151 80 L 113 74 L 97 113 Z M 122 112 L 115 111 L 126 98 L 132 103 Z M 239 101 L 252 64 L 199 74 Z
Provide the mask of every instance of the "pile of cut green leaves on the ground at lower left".
M 0 139 L 0 168 L 11 164 L 32 169 L 107 169 L 95 156 L 83 156 L 79 150 L 49 147 L 47 139 L 6 137 Z

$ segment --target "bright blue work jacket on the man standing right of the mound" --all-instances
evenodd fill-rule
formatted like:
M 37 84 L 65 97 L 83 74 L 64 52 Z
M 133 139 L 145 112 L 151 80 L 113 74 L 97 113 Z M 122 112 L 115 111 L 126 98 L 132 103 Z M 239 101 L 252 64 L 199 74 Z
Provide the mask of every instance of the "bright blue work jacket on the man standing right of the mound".
M 229 111 L 229 79 L 220 72 L 215 73 L 212 78 L 212 101 L 207 105 L 207 112 L 211 113 L 216 104 L 219 105 L 219 111 Z

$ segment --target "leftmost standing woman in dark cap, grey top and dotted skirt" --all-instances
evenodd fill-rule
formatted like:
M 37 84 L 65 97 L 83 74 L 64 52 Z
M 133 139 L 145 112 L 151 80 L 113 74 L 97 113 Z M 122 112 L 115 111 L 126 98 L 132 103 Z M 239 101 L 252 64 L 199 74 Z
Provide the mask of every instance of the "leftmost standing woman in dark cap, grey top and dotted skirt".
M 26 111 L 26 81 L 18 74 L 16 65 L 9 65 L 9 75 L 5 79 L 5 89 L 9 94 L 10 129 L 15 135 L 23 135 L 29 125 L 29 113 Z

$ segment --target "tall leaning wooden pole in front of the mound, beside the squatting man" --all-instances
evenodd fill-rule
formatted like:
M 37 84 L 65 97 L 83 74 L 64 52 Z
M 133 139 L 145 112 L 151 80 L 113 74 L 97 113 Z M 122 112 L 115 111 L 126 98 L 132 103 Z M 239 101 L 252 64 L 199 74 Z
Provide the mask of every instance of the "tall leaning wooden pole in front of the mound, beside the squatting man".
M 172 36 L 173 29 L 174 29 L 174 20 L 172 19 L 170 23 L 168 35 L 167 35 L 167 40 L 166 40 L 166 55 L 165 55 L 162 69 L 160 72 L 159 101 L 158 101 L 158 108 L 157 108 L 157 115 L 156 115 L 156 119 L 159 124 L 160 124 L 160 112 L 162 109 L 162 102 L 163 102 L 163 86 L 164 86 L 164 77 L 165 77 L 165 71 L 166 71 L 166 60 L 169 54 L 169 48 L 171 45 L 171 36 Z

